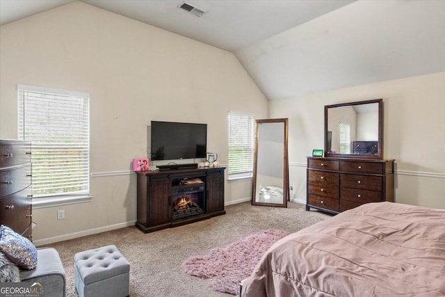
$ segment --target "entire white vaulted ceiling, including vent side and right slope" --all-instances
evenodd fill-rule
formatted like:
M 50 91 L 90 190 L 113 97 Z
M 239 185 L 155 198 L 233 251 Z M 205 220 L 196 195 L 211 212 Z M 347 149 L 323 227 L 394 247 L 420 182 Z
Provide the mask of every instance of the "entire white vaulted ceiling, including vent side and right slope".
M 70 2 L 0 0 L 0 24 Z M 234 52 L 268 99 L 445 71 L 442 0 L 83 2 Z

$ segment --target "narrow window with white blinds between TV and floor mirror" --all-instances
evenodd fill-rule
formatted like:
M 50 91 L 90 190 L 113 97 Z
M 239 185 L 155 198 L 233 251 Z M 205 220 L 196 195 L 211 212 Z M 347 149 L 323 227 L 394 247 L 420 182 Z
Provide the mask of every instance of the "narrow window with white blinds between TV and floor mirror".
M 229 179 L 252 177 L 254 115 L 229 112 Z

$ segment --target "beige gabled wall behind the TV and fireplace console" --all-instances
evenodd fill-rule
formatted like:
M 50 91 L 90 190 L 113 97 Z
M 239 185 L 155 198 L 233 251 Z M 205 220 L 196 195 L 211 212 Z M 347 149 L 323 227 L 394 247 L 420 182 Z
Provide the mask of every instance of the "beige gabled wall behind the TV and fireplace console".
M 234 54 L 81 2 L 1 26 L 0 78 L 0 138 L 17 138 L 17 83 L 90 93 L 92 201 L 33 209 L 38 244 L 134 223 L 131 159 L 146 156 L 151 120 L 207 123 L 208 151 L 226 164 L 228 111 L 267 117 Z M 225 193 L 248 198 L 250 180 Z

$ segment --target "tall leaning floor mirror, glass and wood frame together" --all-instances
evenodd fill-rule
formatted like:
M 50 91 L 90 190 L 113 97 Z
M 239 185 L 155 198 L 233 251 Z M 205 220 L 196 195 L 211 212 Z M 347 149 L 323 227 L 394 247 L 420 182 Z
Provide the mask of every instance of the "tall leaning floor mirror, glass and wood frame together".
M 289 161 L 288 119 L 256 120 L 252 204 L 287 207 Z

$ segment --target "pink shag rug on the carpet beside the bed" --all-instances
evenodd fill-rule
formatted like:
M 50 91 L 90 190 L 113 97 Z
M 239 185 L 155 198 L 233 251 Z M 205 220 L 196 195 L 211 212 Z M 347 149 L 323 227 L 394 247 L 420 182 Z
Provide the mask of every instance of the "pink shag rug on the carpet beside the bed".
M 282 230 L 258 232 L 226 248 L 214 248 L 208 255 L 190 257 L 183 267 L 189 275 L 211 278 L 214 290 L 237 295 L 239 282 L 250 276 L 264 252 L 288 234 Z

